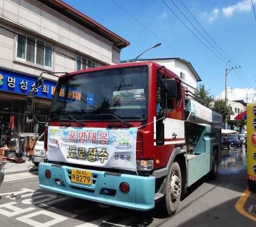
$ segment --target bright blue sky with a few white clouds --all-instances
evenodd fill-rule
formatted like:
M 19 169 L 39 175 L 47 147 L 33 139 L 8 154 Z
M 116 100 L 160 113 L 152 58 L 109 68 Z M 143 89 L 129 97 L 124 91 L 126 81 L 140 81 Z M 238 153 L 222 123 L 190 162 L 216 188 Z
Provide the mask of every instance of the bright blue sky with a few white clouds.
M 228 67 L 240 65 L 241 68 L 230 71 L 228 86 L 233 89 L 232 91 L 238 91 L 234 88 L 240 88 L 243 97 L 246 97 L 248 89 L 256 93 L 256 19 L 251 0 L 182 0 L 215 43 L 193 21 L 182 2 L 173 0 L 212 45 L 186 21 L 172 0 L 163 1 L 169 8 L 162 0 L 64 0 L 65 3 L 131 43 L 121 51 L 121 60 L 134 58 L 147 48 L 161 42 L 161 46 L 145 53 L 142 57 L 184 58 L 194 66 L 206 90 L 217 96 L 224 90 L 226 62 L 231 59 Z M 256 10 L 256 0 L 252 1 Z M 170 9 L 215 54 L 186 28 Z M 254 100 L 255 98 L 256 96 Z

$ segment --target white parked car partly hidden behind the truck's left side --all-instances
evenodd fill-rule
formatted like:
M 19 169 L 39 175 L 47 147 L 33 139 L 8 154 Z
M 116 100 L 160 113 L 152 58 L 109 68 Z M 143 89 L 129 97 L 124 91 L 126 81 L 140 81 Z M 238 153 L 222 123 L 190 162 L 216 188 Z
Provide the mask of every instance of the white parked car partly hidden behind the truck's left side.
M 46 151 L 44 150 L 44 133 L 36 141 L 35 149 L 32 154 L 32 162 L 38 166 L 40 162 L 46 162 Z

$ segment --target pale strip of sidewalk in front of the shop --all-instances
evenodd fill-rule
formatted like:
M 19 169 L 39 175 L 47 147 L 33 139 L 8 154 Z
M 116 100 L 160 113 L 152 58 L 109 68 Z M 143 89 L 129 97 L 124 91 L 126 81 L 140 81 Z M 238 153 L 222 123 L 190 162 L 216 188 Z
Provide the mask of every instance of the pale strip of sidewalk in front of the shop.
M 26 161 L 20 164 L 6 162 L 4 163 L 3 169 L 5 174 L 14 174 L 19 172 L 34 172 L 38 170 L 38 168 L 31 161 Z

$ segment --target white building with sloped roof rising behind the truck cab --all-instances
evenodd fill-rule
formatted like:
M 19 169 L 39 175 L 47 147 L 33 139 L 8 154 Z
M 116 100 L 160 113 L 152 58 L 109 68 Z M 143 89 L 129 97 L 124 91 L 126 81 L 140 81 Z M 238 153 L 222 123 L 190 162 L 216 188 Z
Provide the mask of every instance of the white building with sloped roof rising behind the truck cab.
M 133 60 L 122 60 L 121 63 L 132 62 Z M 152 61 L 166 68 L 178 75 L 183 84 L 188 87 L 188 90 L 194 93 L 196 89 L 196 82 L 201 81 L 200 76 L 196 73 L 192 64 L 180 57 L 156 57 L 156 58 L 140 58 L 136 62 Z

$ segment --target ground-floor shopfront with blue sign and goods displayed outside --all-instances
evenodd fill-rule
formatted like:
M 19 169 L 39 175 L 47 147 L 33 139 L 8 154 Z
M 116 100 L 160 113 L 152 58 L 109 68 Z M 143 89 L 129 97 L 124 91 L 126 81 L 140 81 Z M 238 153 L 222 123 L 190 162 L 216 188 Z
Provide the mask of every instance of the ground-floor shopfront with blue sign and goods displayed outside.
M 0 150 L 5 154 L 28 156 L 43 132 L 44 124 L 29 120 L 26 114 L 26 95 L 37 78 L 0 69 Z M 35 90 L 35 114 L 47 122 L 56 83 L 44 81 Z

